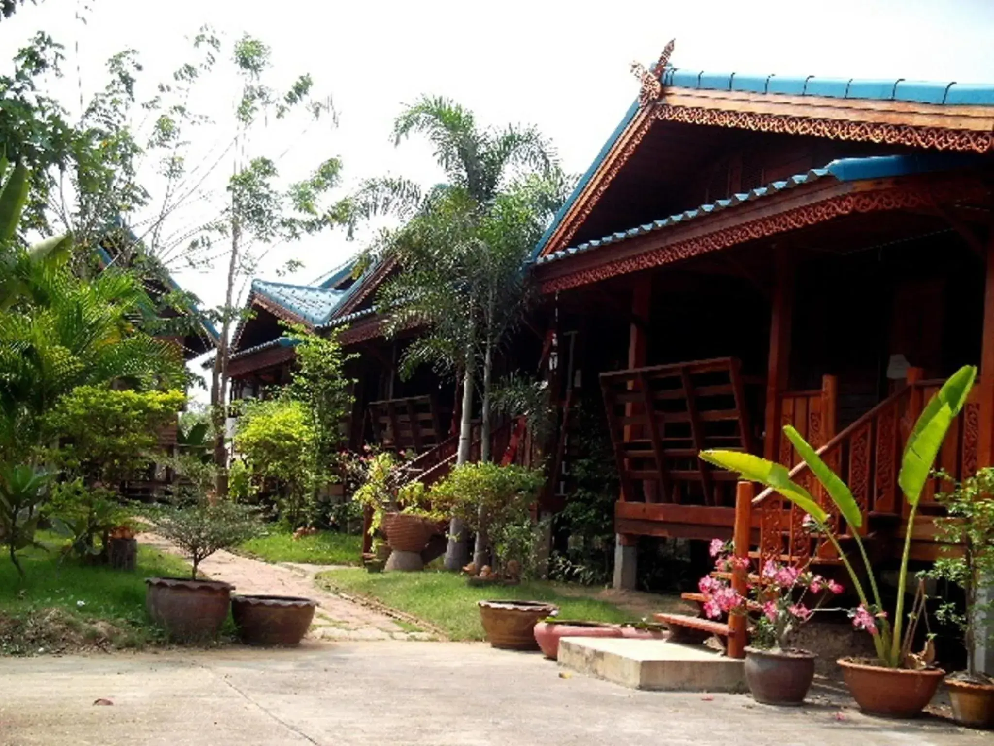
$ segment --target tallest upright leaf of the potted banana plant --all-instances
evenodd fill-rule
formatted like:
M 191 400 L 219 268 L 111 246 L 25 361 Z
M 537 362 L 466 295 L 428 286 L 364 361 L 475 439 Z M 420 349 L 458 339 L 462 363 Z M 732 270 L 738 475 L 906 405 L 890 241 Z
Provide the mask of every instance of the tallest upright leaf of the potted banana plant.
M 921 411 L 908 438 L 898 483 L 911 505 L 917 505 L 945 436 L 970 395 L 977 369 L 964 365 L 953 373 Z

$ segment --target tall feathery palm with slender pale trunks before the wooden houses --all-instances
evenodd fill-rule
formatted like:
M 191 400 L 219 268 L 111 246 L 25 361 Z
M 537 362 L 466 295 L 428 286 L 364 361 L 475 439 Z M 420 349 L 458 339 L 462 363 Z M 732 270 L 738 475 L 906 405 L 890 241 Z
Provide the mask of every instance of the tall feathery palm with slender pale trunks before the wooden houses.
M 527 307 L 525 263 L 565 199 L 568 180 L 535 128 L 481 129 L 447 98 L 422 96 L 397 118 L 395 144 L 414 133 L 432 143 L 447 182 L 422 193 L 405 179 L 373 179 L 346 212 L 353 222 L 385 213 L 406 221 L 382 233 L 372 252 L 402 269 L 379 295 L 388 333 L 424 329 L 402 372 L 429 362 L 461 377 L 457 465 L 469 458 L 473 392 L 482 378 L 481 459 L 489 461 L 494 355 Z M 450 534 L 463 533 L 453 519 Z M 465 560 L 464 542 L 450 540 L 446 568 Z

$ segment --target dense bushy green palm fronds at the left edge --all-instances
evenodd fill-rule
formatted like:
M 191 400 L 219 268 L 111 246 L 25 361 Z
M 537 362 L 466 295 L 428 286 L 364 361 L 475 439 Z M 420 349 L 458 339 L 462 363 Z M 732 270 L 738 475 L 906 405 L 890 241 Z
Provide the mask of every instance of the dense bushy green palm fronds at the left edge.
M 0 189 L 0 460 L 8 461 L 32 456 L 44 416 L 77 386 L 161 388 L 186 376 L 179 352 L 143 330 L 155 307 L 135 276 L 79 277 L 68 236 L 19 243 L 26 177 L 15 166 Z

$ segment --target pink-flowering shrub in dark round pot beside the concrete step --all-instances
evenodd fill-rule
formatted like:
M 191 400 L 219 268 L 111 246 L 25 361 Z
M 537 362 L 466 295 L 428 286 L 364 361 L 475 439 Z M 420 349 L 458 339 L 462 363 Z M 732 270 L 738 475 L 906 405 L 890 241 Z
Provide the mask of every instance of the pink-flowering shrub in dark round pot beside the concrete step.
M 721 539 L 711 542 L 711 555 L 724 572 L 737 561 L 730 543 Z M 745 682 L 752 698 L 763 704 L 801 704 L 814 679 L 816 655 L 791 648 L 790 637 L 811 620 L 826 598 L 842 593 L 842 586 L 809 569 L 770 561 L 756 580 L 749 581 L 747 598 L 710 575 L 701 578 L 699 587 L 705 596 L 704 612 L 712 619 L 753 613 L 751 645 L 745 648 Z M 815 599 L 813 607 L 805 603 L 808 598 Z

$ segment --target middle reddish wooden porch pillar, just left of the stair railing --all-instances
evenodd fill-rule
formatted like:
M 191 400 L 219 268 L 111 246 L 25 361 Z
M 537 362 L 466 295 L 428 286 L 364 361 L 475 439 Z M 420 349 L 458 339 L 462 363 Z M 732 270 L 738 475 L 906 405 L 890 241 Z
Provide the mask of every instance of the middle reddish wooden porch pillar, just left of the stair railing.
M 789 250 L 774 249 L 776 284 L 769 320 L 769 360 L 766 366 L 766 437 L 762 453 L 776 461 L 780 442 L 780 394 L 790 372 L 790 331 L 794 305 L 794 263 Z

